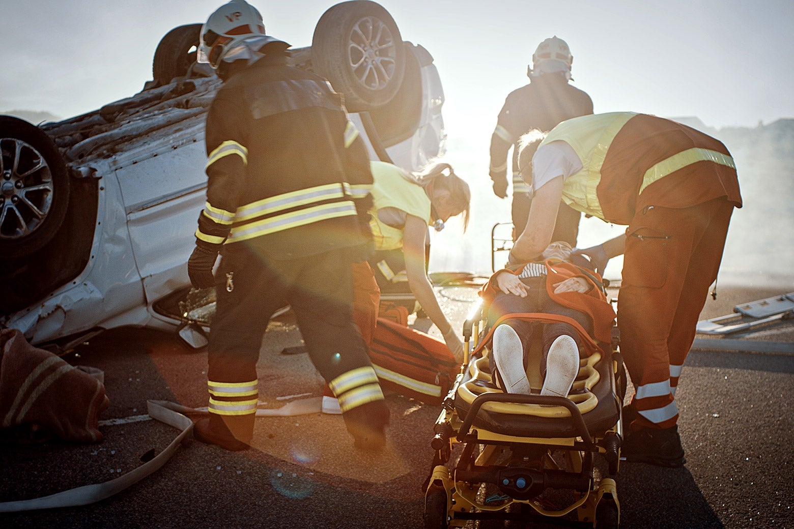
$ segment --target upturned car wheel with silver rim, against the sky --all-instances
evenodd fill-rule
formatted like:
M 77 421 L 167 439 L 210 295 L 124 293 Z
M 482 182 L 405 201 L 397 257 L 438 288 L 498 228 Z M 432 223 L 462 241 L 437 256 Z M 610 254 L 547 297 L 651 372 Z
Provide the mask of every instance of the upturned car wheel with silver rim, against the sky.
M 376 2 L 331 7 L 314 28 L 314 71 L 345 94 L 350 112 L 376 109 L 395 97 L 405 71 L 405 46 L 391 15 Z

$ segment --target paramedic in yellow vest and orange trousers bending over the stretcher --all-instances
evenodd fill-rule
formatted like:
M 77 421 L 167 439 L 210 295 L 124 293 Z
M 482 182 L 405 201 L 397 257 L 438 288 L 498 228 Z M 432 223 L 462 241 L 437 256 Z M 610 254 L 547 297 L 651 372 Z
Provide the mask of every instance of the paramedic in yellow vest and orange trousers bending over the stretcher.
M 537 149 L 537 151 L 536 151 Z M 684 464 L 675 393 L 734 207 L 742 207 L 734 160 L 711 136 L 631 112 L 564 121 L 522 139 L 518 162 L 534 194 L 511 259 L 538 255 L 562 198 L 626 233 L 575 253 L 603 274 L 624 255 L 618 300 L 620 348 L 636 393 L 624 410 L 628 461 Z

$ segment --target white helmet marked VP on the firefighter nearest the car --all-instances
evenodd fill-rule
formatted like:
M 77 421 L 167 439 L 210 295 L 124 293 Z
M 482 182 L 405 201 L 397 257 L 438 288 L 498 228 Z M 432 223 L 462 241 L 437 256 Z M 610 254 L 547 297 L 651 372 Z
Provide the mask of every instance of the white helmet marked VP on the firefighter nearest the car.
M 255 7 L 245 0 L 232 0 L 215 10 L 201 29 L 199 63 L 218 68 L 221 61 L 242 41 L 264 35 L 264 21 Z

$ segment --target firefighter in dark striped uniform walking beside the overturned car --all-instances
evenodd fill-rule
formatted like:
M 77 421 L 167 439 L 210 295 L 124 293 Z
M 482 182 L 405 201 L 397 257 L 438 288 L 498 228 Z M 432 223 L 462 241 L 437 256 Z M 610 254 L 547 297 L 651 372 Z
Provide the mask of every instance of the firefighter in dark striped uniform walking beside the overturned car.
M 341 96 L 287 65 L 288 46 L 265 34 L 243 0 L 220 7 L 201 31 L 199 59 L 224 84 L 206 118 L 206 206 L 188 263 L 191 283 L 218 293 L 210 417 L 195 436 L 228 450 L 249 446 L 262 337 L 273 312 L 291 305 L 355 445 L 375 449 L 388 409 L 353 324 L 350 272 L 371 237 L 369 158 Z

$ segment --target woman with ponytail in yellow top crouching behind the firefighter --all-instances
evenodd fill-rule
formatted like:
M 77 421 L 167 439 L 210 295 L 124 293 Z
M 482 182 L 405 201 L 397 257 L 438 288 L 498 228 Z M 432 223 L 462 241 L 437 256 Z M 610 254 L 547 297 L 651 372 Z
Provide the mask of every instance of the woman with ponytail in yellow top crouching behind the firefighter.
M 425 247 L 428 226 L 443 226 L 450 217 L 464 215 L 468 224 L 471 192 L 468 184 L 446 163 L 437 163 L 418 174 L 411 174 L 386 162 L 372 162 L 372 200 L 369 214 L 376 250 L 402 249 L 408 286 L 419 305 L 436 325 L 457 362 L 463 361 L 463 343 L 449 323 L 426 274 Z M 440 224 L 437 224 L 440 223 Z M 378 316 L 380 289 L 372 268 L 383 263 L 354 265 L 353 318 L 369 343 Z M 333 394 L 323 392 L 323 412 L 335 413 Z

